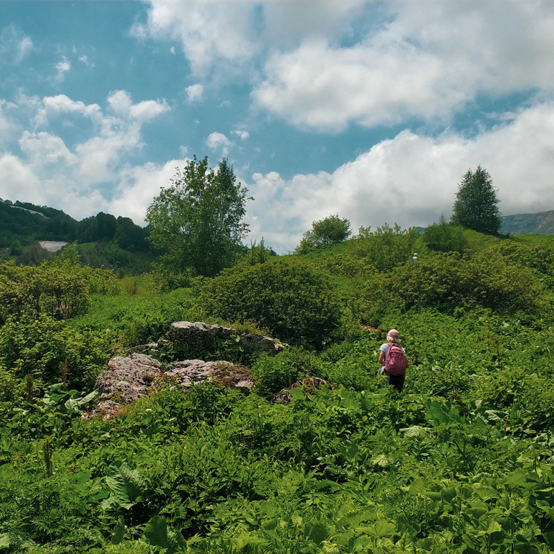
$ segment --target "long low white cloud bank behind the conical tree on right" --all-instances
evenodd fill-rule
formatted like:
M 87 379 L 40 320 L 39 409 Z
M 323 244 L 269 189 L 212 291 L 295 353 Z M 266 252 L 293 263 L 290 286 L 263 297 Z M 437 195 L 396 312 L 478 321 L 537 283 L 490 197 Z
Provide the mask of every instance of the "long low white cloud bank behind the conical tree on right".
M 457 184 L 468 168 L 481 164 L 499 190 L 501 212 L 554 209 L 554 102 L 518 111 L 474 139 L 444 132 L 437 137 L 403 131 L 330 173 L 253 175 L 249 210 L 251 237 L 294 249 L 312 221 L 332 213 L 352 228 L 397 222 L 425 226 L 449 217 Z

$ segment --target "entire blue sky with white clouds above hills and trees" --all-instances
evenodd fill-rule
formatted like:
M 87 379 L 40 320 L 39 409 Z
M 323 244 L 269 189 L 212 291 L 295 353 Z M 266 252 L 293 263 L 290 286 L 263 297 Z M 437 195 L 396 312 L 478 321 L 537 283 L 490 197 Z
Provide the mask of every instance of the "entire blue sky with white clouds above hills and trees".
M 479 165 L 503 215 L 553 210 L 553 52 L 549 1 L 0 2 L 0 197 L 144 225 L 227 157 L 278 253 L 449 217 Z

